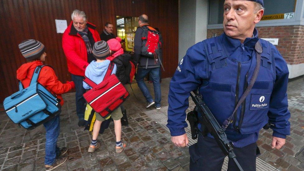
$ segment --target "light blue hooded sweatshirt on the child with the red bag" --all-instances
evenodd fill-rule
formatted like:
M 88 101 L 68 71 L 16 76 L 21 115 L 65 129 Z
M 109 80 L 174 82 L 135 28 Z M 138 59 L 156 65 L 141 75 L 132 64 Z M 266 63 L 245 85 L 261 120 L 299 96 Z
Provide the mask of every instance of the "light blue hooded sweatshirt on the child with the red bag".
M 93 60 L 86 68 L 84 75 L 92 80 L 94 83 L 99 84 L 102 82 L 104 76 L 106 75 L 107 69 L 109 67 L 110 60 L 104 60 L 102 62 L 96 62 Z M 116 73 L 116 64 L 112 70 L 112 74 Z M 83 88 L 91 89 L 87 83 L 83 82 Z

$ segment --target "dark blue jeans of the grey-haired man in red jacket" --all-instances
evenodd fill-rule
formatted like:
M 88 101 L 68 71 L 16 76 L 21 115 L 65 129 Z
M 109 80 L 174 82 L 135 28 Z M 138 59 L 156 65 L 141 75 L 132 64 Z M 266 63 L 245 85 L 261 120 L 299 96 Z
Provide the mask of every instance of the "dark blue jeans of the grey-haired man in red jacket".
M 86 101 L 83 98 L 83 93 L 86 92 L 86 89 L 83 88 L 83 76 L 71 74 L 72 81 L 75 83 L 76 89 L 76 113 L 79 120 L 84 119 L 84 111 L 86 107 Z

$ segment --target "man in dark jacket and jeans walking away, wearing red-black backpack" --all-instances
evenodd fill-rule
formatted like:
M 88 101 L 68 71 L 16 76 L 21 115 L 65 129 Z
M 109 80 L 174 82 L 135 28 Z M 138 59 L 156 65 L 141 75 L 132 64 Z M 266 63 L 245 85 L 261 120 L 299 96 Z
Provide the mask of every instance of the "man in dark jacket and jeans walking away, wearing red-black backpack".
M 161 92 L 160 92 L 160 82 L 159 82 L 159 67 L 160 63 L 159 60 L 155 62 L 152 58 L 147 58 L 141 54 L 141 46 L 142 46 L 142 34 L 146 29 L 148 24 L 148 16 L 145 14 L 141 15 L 138 20 L 138 28 L 135 31 L 135 38 L 134 38 L 134 62 L 135 66 L 138 63 L 138 69 L 135 76 L 136 82 L 138 87 L 140 88 L 141 92 L 146 98 L 146 108 L 155 104 L 156 109 L 160 109 L 160 101 L 161 101 Z M 155 102 L 152 99 L 152 96 L 147 88 L 144 78 L 147 74 L 150 74 L 152 77 L 152 82 L 154 86 L 154 95 L 155 95 Z

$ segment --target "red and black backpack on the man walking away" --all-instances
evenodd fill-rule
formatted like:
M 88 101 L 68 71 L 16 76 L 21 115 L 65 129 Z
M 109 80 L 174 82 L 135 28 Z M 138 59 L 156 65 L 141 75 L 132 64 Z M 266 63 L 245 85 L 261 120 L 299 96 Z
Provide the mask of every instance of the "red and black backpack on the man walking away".
M 141 28 L 144 29 L 141 36 L 141 55 L 148 58 L 158 59 L 159 50 L 161 48 L 160 33 L 150 26 Z

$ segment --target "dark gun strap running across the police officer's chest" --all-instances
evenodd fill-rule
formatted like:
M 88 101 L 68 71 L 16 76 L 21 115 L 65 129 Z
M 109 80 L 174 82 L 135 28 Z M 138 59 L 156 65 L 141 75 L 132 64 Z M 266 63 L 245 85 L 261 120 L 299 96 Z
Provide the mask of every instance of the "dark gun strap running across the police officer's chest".
M 261 64 L 261 53 L 263 52 L 263 48 L 262 48 L 262 46 L 261 46 L 261 44 L 260 44 L 259 41 L 255 44 L 254 49 L 257 52 L 256 53 L 257 63 L 256 63 L 256 66 L 255 66 L 255 69 L 254 69 L 254 72 L 253 72 L 253 76 L 252 76 L 252 78 L 250 80 L 250 83 L 249 83 L 248 87 L 246 88 L 246 90 L 243 93 L 243 95 L 241 96 L 239 102 L 235 106 L 235 109 L 234 109 L 232 115 L 223 122 L 222 128 L 224 130 L 226 130 L 226 128 L 229 126 L 229 124 L 233 122 L 234 115 L 236 115 L 236 113 L 235 113 L 236 110 L 241 106 L 241 104 L 244 102 L 244 100 L 246 99 L 246 97 L 250 93 L 251 88 L 253 87 L 253 85 L 255 83 L 255 80 L 256 80 L 256 78 L 259 75 L 260 64 Z

